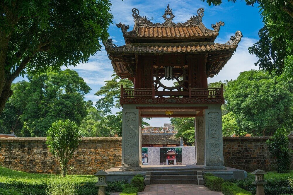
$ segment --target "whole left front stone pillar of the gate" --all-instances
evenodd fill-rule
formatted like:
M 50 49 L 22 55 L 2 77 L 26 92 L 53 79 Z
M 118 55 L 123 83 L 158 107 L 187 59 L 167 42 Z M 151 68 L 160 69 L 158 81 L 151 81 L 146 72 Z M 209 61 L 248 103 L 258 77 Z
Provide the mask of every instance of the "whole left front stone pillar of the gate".
M 122 109 L 122 170 L 140 169 L 139 119 L 138 109 Z

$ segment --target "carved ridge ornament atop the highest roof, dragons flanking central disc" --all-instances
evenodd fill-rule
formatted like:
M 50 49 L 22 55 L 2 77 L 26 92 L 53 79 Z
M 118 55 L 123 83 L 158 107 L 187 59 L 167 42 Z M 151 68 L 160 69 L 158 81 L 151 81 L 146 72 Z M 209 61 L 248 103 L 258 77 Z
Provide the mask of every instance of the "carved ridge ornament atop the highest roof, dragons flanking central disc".
M 189 20 L 187 20 L 185 23 L 174 23 L 172 20 L 175 17 L 172 13 L 172 8 L 170 9 L 169 4 L 167 8 L 165 9 L 165 14 L 162 16 L 165 19 L 164 23 L 152 23 L 146 16 L 139 16 L 139 10 L 137 8 L 132 9 L 132 17 L 134 19 L 134 22 L 137 23 L 140 26 L 193 26 L 193 25 L 199 25 L 199 23 L 202 21 L 202 16 L 204 15 L 204 8 L 199 8 L 197 10 L 197 16 L 191 16 Z M 118 27 L 119 28 L 119 27 Z

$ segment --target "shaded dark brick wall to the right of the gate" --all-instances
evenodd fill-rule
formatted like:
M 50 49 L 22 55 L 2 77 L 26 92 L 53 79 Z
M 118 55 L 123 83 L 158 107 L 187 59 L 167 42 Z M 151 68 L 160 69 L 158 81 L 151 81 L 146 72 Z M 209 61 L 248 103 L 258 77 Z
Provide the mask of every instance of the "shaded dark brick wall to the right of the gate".
M 276 159 L 265 143 L 270 137 L 223 137 L 224 165 L 246 171 L 275 170 Z M 289 137 L 293 149 L 293 137 Z M 293 156 L 291 168 L 293 169 Z

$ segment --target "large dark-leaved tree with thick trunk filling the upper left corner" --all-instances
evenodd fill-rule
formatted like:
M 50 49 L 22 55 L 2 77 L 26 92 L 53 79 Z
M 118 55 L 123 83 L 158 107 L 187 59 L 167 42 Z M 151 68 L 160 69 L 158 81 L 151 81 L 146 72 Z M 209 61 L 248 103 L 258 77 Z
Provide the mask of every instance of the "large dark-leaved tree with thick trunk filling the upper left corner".
M 76 66 L 100 50 L 110 6 L 108 0 L 0 1 L 0 113 L 19 75 Z

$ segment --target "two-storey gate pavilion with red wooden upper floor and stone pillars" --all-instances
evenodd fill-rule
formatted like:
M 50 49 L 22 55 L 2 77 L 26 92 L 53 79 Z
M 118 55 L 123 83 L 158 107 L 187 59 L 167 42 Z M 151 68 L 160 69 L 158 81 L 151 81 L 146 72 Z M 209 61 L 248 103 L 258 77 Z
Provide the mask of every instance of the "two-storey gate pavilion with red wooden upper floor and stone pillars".
M 169 5 L 164 23 L 152 23 L 132 9 L 133 30 L 121 29 L 125 45 L 103 44 L 117 75 L 134 88 L 121 86 L 122 170 L 140 170 L 142 117 L 194 117 L 197 165 L 224 169 L 222 143 L 223 87 L 208 88 L 208 77 L 219 73 L 235 53 L 242 34 L 215 43 L 224 22 L 202 23 L 204 9 L 183 23 L 174 23 Z M 169 81 L 169 82 L 168 82 Z M 170 156 L 169 156 L 170 157 Z

